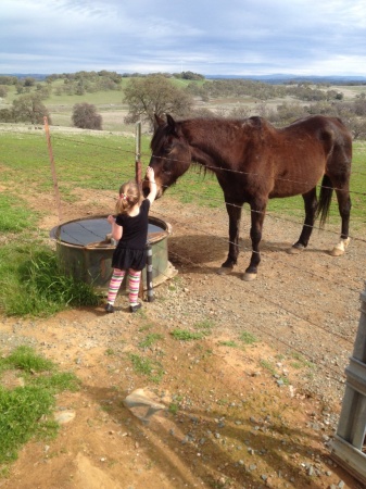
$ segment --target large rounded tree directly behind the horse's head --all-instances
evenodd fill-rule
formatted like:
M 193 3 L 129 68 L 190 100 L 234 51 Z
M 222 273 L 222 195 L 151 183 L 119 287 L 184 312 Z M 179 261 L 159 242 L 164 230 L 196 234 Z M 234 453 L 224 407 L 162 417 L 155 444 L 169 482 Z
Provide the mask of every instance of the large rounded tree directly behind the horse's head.
M 152 128 L 154 114 L 163 116 L 171 113 L 177 116 L 189 114 L 193 98 L 163 75 L 149 75 L 131 78 L 125 88 L 124 101 L 128 104 L 127 124 L 137 121 L 148 122 Z

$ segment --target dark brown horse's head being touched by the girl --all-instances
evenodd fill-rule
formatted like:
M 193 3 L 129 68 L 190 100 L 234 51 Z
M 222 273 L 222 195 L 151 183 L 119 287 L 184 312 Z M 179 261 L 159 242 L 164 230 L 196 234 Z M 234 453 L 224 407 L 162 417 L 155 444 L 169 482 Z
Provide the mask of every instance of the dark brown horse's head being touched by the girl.
M 175 184 L 191 164 L 191 151 L 186 141 L 180 123 L 166 115 L 166 122 L 155 115 L 156 127 L 151 139 L 152 151 L 149 166 L 154 168 L 157 186 L 156 198 Z M 149 183 L 142 184 L 143 195 L 149 193 Z

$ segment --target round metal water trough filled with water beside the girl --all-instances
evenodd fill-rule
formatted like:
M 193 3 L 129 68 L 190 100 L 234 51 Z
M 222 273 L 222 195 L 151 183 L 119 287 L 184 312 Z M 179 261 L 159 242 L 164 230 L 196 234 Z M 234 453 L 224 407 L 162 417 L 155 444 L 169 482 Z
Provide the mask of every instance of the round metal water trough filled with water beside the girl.
M 116 244 L 111 240 L 111 225 L 106 217 L 98 215 L 68 221 L 50 233 L 50 237 L 55 240 L 59 262 L 64 272 L 92 285 L 101 293 L 108 292 Z M 171 233 L 172 226 L 168 223 L 149 216 L 148 241 L 152 248 L 153 286 L 177 274 L 167 259 L 167 237 Z M 146 273 L 142 276 L 146 289 Z

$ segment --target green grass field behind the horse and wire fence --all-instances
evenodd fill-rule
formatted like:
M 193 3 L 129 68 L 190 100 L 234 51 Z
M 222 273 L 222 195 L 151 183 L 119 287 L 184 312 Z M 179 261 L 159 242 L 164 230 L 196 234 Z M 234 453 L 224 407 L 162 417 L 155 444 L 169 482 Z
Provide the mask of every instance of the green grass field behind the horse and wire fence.
M 39 131 L 41 133 L 41 131 Z M 45 135 L 41 133 L 1 133 L 2 152 L 1 180 L 8 187 L 7 193 L 18 192 L 29 187 L 33 192 L 52 192 L 53 181 Z M 75 186 L 85 189 L 115 191 L 117 181 L 135 176 L 135 139 L 132 137 L 100 134 L 98 137 L 76 134 L 51 135 L 52 152 L 55 161 L 60 192 L 63 199 L 73 199 Z M 142 137 L 141 161 L 149 164 L 150 138 Z M 352 220 L 365 224 L 366 208 L 366 142 L 354 142 L 353 171 L 351 178 Z M 8 184 L 8 185 L 7 185 Z M 204 175 L 199 167 L 191 170 L 168 190 L 171 196 L 182 202 L 199 205 L 222 206 L 223 192 L 215 176 Z M 74 197 L 75 198 L 75 197 Z M 269 201 L 268 212 L 303 216 L 301 196 Z M 338 222 L 338 209 L 331 205 L 330 220 Z

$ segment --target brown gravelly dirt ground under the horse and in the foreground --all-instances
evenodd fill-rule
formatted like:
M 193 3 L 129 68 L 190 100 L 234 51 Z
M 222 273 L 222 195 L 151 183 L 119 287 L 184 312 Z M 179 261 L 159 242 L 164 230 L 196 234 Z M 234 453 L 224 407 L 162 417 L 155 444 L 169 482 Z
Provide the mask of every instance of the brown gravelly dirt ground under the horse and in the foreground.
M 111 212 L 111 201 L 76 189 L 64 221 Z M 49 210 L 50 196 L 29 197 Z M 338 230 L 314 231 L 300 255 L 287 249 L 298 224 L 268 215 L 256 280 L 241 279 L 250 256 L 243 215 L 239 264 L 216 274 L 227 254 L 225 209 L 177 203 L 168 193 L 152 215 L 172 225 L 168 258 L 177 271 L 137 314 L 71 310 L 48 319 L 0 318 L 0 348 L 31 344 L 73 371 L 76 393 L 56 399 L 60 434 L 20 453 L 7 489 L 352 488 L 363 486 L 329 456 L 353 351 L 365 278 L 365 242 L 327 252 Z M 174 331 L 201 333 L 178 340 Z M 245 338 L 255 338 L 248 343 Z M 149 341 L 150 340 L 150 341 Z M 134 359 L 152 369 L 136 368 Z M 160 404 L 124 401 L 137 389 Z

